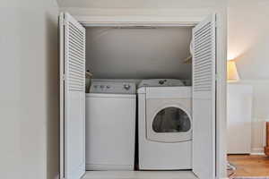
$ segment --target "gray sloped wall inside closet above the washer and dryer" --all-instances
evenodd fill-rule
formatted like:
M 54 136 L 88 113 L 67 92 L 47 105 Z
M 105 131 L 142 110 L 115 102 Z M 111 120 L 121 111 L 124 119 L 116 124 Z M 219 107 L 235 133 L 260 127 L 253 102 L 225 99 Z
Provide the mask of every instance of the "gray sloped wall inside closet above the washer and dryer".
M 94 78 L 191 78 L 191 27 L 88 28 L 87 69 Z

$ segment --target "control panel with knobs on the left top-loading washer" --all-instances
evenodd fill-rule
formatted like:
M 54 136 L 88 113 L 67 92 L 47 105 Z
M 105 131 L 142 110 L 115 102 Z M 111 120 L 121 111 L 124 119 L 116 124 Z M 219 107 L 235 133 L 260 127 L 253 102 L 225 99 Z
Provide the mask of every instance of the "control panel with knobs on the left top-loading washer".
M 92 81 L 90 93 L 135 94 L 133 82 L 124 81 Z

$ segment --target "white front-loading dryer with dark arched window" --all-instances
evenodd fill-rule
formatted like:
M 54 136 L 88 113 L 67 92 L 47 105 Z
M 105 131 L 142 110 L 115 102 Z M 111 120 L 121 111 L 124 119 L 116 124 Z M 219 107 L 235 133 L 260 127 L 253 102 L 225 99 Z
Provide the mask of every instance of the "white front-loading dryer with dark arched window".
M 192 168 L 191 87 L 145 80 L 138 89 L 140 170 Z

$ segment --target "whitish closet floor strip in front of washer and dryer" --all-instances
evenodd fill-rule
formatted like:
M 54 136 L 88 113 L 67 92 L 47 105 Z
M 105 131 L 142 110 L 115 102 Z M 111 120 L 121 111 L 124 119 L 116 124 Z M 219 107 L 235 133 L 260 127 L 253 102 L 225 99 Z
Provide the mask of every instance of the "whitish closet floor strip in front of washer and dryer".
M 192 171 L 87 171 L 82 179 L 197 179 Z

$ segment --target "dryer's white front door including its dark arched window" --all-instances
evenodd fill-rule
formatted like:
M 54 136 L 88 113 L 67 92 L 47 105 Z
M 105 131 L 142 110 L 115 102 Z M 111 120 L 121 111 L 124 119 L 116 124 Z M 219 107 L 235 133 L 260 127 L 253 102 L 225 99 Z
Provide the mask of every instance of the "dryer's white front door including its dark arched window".
M 148 99 L 146 105 L 147 140 L 168 143 L 192 140 L 190 108 L 157 99 Z

